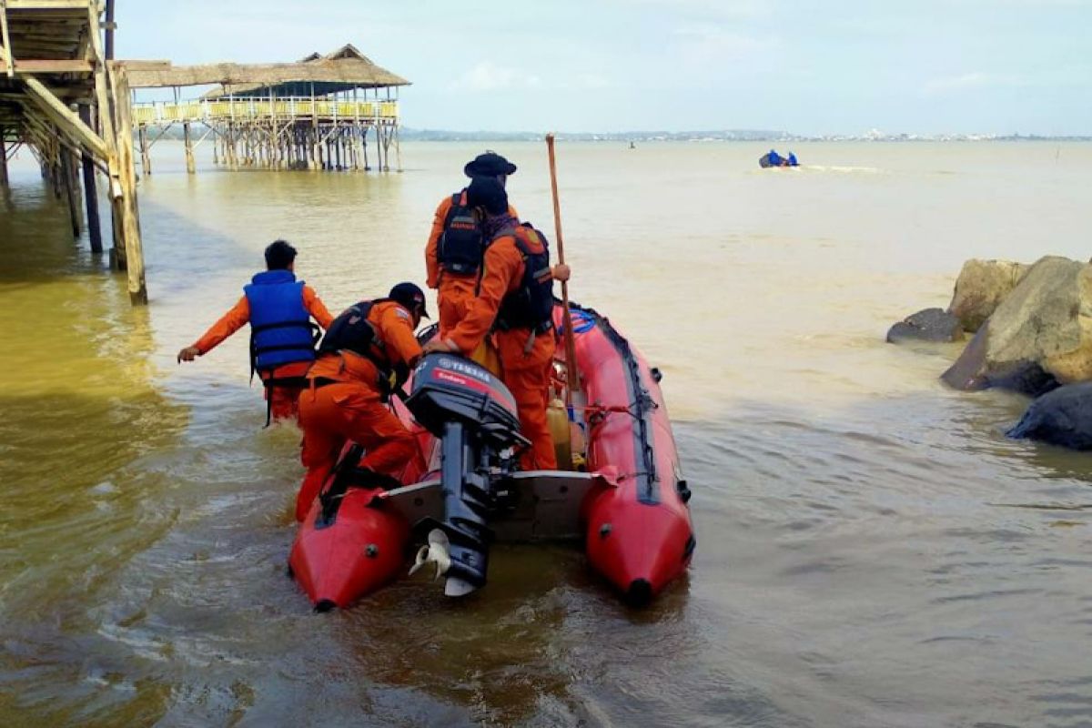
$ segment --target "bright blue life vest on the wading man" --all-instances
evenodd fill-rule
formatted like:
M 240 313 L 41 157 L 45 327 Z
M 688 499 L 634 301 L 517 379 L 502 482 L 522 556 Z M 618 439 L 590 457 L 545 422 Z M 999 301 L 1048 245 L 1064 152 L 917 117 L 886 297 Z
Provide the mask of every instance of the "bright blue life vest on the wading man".
M 304 282 L 292 271 L 265 271 L 244 286 L 250 303 L 251 366 L 258 371 L 314 360 L 311 314 L 304 308 Z

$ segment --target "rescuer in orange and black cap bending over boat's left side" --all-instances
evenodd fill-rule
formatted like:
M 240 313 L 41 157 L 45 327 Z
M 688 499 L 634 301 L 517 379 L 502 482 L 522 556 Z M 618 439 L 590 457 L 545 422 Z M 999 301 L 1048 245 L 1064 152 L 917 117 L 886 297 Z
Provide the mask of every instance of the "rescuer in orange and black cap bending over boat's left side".
M 379 476 L 377 481 L 416 453 L 416 440 L 387 402 L 420 358 L 414 330 L 422 317 L 428 318 L 424 291 L 400 283 L 387 298 L 360 301 L 330 325 L 299 396 L 307 476 L 296 499 L 297 520 L 307 516 L 347 441 L 364 446 L 357 467 Z

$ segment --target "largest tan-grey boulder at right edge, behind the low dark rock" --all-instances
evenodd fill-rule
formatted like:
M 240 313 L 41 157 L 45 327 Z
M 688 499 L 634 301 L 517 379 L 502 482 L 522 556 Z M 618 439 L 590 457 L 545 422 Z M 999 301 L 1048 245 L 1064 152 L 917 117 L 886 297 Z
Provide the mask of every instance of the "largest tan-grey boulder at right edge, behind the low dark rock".
M 1033 395 L 1092 379 L 1092 265 L 1037 261 L 941 379 Z

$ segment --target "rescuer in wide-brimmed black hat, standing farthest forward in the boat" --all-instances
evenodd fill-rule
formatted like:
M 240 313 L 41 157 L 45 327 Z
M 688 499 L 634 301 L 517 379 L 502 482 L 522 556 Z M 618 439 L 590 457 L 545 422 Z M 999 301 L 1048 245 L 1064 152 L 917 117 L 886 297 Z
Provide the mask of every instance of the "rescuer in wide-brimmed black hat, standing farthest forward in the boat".
M 463 172 L 471 179 L 490 177 L 505 187 L 515 165 L 495 152 L 479 154 L 466 163 Z M 518 218 L 515 208 L 508 214 Z M 440 336 L 447 336 L 477 295 L 483 253 L 482 215 L 466 202 L 466 188 L 440 201 L 432 218 L 432 231 L 425 248 L 426 284 L 437 289 Z

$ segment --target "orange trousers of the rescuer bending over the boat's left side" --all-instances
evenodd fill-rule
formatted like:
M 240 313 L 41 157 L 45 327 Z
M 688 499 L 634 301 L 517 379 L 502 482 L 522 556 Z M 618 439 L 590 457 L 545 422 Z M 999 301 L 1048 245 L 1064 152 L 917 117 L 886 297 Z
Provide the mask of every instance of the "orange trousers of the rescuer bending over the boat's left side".
M 342 382 L 304 390 L 299 395 L 299 425 L 304 429 L 300 460 L 307 468 L 296 499 L 302 520 L 319 494 L 345 442 L 364 446 L 360 467 L 395 475 L 417 452 L 417 442 L 379 393 L 360 382 Z

